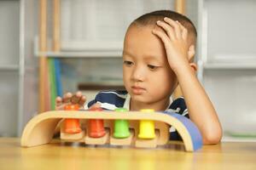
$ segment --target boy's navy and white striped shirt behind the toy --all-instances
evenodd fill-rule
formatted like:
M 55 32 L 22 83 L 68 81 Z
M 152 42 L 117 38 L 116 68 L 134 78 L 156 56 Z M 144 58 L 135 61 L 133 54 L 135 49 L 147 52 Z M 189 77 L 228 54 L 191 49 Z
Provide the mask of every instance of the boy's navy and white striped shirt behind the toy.
M 127 91 L 101 91 L 96 94 L 96 98 L 91 100 L 87 105 L 84 105 L 84 109 L 90 108 L 91 105 L 96 103 L 101 104 L 102 109 L 113 111 L 116 108 L 122 107 L 130 110 L 130 94 Z M 177 98 L 170 102 L 170 105 L 166 108 L 166 111 L 175 112 L 182 116 L 186 116 L 189 118 L 189 112 L 183 97 Z M 174 127 L 170 128 L 170 139 L 172 140 L 180 140 L 181 137 L 177 133 Z

